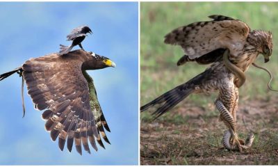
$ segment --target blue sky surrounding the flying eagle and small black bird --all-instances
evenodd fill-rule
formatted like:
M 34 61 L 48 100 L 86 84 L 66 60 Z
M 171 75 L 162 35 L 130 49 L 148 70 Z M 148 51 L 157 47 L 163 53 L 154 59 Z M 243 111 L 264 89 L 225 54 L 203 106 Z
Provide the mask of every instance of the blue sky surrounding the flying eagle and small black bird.
M 117 67 L 90 71 L 112 145 L 80 156 L 75 148 L 60 152 L 44 130 L 42 111 L 26 93 L 22 118 L 21 78 L 0 82 L 1 165 L 135 165 L 138 164 L 138 3 L 40 2 L 0 3 L 0 73 L 31 57 L 70 45 L 66 35 L 87 24 L 93 31 L 82 45 L 111 58 Z M 75 47 L 74 49 L 79 49 Z M 91 148 L 92 150 L 92 148 Z

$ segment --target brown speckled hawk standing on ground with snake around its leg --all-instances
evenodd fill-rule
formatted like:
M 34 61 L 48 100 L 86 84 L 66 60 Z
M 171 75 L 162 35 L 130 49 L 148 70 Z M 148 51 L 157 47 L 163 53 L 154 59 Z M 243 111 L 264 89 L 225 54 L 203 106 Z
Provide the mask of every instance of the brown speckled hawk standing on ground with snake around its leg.
M 230 150 L 241 150 L 251 146 L 254 136 L 250 135 L 250 142 L 245 143 L 236 134 L 236 111 L 238 109 L 238 88 L 244 84 L 245 72 L 263 54 L 265 63 L 272 54 L 272 33 L 269 31 L 251 31 L 244 22 L 222 15 L 209 16 L 211 21 L 195 22 L 181 26 L 165 35 L 165 43 L 180 45 L 185 52 L 177 65 L 188 61 L 199 64 L 210 64 L 204 72 L 190 79 L 185 84 L 157 97 L 152 102 L 141 106 L 145 111 L 154 105 L 158 109 L 153 113 L 158 118 L 172 109 L 191 93 L 209 93 L 218 91 L 215 106 L 220 111 L 220 120 L 229 128 L 225 133 L 224 146 Z M 226 138 L 226 139 L 225 139 Z M 231 141 L 231 146 L 229 145 Z

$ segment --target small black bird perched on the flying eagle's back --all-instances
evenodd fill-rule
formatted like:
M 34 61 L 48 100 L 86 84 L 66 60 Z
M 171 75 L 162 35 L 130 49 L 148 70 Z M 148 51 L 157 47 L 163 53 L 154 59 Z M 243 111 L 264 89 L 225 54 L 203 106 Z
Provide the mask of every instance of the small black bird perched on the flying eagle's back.
M 76 45 L 79 45 L 83 51 L 85 51 L 81 45 L 81 42 L 85 39 L 86 33 L 92 34 L 92 30 L 88 26 L 79 26 L 72 30 L 72 32 L 67 35 L 67 40 L 72 40 L 72 45 L 70 47 L 60 45 L 60 55 L 67 54 Z

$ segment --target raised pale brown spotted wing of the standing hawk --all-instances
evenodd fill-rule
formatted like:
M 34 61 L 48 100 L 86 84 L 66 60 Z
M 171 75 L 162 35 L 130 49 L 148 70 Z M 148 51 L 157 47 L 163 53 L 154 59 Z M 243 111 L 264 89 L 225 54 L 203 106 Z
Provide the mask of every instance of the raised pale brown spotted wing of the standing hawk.
M 212 21 L 195 22 L 174 29 L 165 35 L 165 43 L 180 45 L 190 59 L 199 58 L 215 49 L 229 49 L 238 56 L 243 49 L 249 26 L 240 20 L 221 15 L 210 16 Z

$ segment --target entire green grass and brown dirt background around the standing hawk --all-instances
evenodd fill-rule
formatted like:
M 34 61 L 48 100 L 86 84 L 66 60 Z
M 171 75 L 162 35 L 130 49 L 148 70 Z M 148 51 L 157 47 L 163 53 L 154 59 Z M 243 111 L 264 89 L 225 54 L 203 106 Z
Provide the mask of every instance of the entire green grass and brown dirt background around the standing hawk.
M 207 16 L 213 14 L 241 19 L 251 29 L 272 31 L 272 57 L 269 63 L 263 63 L 263 56 L 259 56 L 256 63 L 268 67 L 275 78 L 272 88 L 278 89 L 278 75 L 275 73 L 278 71 L 278 49 L 275 47 L 278 46 L 277 8 L 277 2 L 140 3 L 141 106 L 208 67 L 195 63 L 177 67 L 183 51 L 178 46 L 165 45 L 163 36 L 178 26 L 209 20 Z M 238 119 L 239 127 L 243 128 L 240 129 L 241 136 L 246 136 L 248 128 L 256 132 L 251 150 L 238 153 L 219 149 L 222 147 L 222 131 L 226 127 L 218 122 L 219 113 L 213 106 L 218 94 L 190 95 L 154 122 L 150 122 L 151 111 L 141 114 L 141 164 L 278 164 L 278 125 L 274 120 L 278 119 L 275 115 L 278 110 L 275 105 L 277 93 L 267 90 L 269 78 L 266 72 L 250 67 L 245 74 L 247 81 L 240 88 L 238 116 L 245 118 L 247 111 L 255 112 L 256 108 L 260 111 L 250 113 L 251 118 L 245 118 L 249 121 L 247 125 Z M 261 129 L 266 130 L 261 132 Z M 238 160 L 235 161 L 233 156 Z

